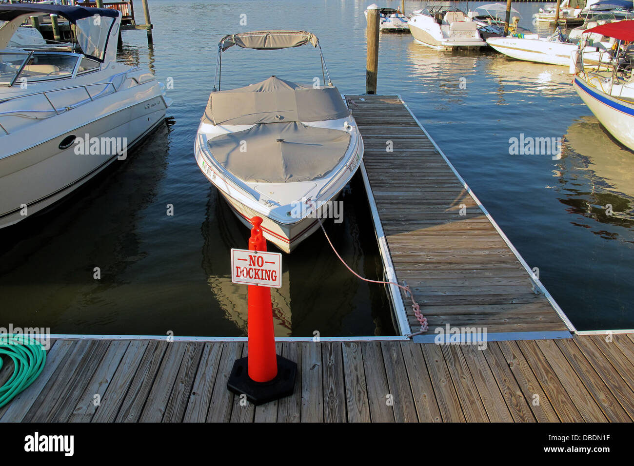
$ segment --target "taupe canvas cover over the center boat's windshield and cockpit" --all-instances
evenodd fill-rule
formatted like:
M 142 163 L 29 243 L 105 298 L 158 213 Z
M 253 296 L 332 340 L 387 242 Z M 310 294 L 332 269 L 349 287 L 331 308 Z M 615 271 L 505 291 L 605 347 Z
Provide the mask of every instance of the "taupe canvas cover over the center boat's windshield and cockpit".
M 350 111 L 334 86 L 301 86 L 271 76 L 238 89 L 212 92 L 203 122 L 258 124 L 346 118 Z

